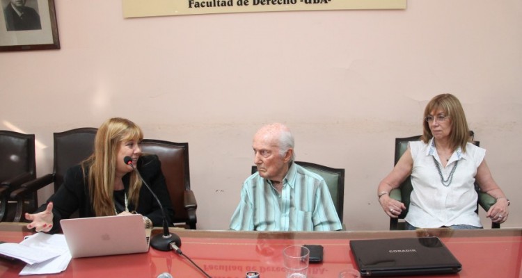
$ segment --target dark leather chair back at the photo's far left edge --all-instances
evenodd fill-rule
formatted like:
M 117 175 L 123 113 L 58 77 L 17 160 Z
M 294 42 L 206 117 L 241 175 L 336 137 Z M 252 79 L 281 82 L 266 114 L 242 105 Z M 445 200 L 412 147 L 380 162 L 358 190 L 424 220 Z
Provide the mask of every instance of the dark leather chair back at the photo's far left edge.
M 0 131 L 0 182 L 26 172 L 36 177 L 34 140 L 34 134 Z

